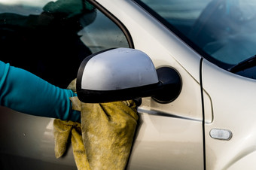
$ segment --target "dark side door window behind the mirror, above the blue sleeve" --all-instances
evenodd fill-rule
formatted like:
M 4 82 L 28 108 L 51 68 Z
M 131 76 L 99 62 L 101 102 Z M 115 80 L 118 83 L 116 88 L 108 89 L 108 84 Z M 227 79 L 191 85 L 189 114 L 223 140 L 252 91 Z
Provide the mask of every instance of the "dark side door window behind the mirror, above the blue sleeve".
M 3 62 L 66 88 L 91 53 L 130 46 L 85 0 L 0 0 L 0 47 Z

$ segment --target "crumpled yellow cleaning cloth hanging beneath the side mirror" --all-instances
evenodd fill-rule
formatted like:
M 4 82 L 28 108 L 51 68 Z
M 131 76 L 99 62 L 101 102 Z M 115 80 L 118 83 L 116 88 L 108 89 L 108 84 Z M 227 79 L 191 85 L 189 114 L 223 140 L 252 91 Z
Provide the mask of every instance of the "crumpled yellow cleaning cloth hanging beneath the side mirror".
M 75 80 L 69 89 L 75 91 Z M 55 120 L 55 154 L 66 151 L 69 134 L 78 169 L 124 169 L 133 144 L 138 115 L 132 100 L 99 104 L 71 98 L 73 109 L 81 111 L 81 124 Z

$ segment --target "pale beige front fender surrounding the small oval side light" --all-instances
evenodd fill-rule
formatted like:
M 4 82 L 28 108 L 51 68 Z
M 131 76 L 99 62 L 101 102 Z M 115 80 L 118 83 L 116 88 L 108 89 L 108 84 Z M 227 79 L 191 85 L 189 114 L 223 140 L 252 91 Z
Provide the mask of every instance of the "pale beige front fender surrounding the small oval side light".
M 212 123 L 206 123 L 206 167 L 226 169 L 254 153 L 256 81 L 224 71 L 206 60 L 202 72 L 214 117 Z M 227 129 L 233 136 L 229 141 L 216 140 L 209 135 L 211 129 Z

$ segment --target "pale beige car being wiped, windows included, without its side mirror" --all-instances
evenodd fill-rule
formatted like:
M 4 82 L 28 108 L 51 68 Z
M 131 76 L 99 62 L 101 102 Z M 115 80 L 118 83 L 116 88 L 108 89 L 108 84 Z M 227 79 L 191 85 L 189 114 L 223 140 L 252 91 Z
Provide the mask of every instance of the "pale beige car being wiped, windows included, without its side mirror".
M 0 0 L 0 59 L 66 88 L 85 56 L 141 50 L 159 80 L 166 69 L 180 83 L 138 92 L 126 168 L 255 169 L 255 8 L 254 0 Z M 0 113 L 1 169 L 76 169 L 71 148 L 54 156 L 53 119 Z

